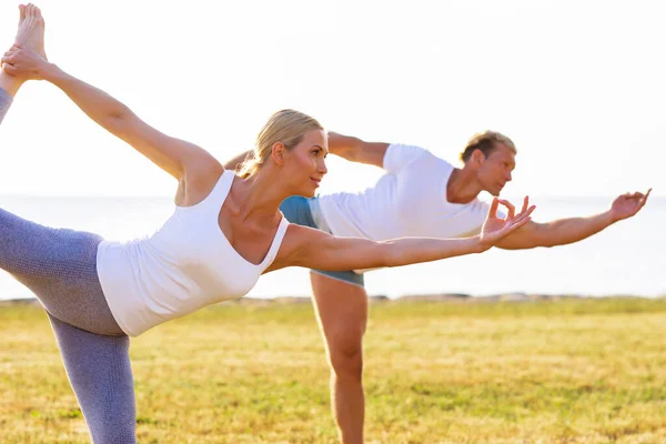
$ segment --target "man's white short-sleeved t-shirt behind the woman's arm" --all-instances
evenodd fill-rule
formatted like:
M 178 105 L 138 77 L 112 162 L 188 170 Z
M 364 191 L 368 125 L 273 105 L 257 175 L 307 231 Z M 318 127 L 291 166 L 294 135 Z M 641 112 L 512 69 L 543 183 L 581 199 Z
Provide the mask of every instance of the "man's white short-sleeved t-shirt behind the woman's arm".
M 339 236 L 383 241 L 394 238 L 463 238 L 477 234 L 490 205 L 446 200 L 454 168 L 418 147 L 392 144 L 384 154 L 384 174 L 360 193 L 320 198 L 322 215 Z

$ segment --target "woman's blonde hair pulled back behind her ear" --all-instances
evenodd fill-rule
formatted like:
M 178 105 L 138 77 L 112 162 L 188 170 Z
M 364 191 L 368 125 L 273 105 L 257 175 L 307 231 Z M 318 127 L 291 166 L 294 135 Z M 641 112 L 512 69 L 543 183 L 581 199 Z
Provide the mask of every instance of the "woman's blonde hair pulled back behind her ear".
M 246 179 L 259 171 L 271 157 L 275 143 L 282 142 L 287 150 L 292 150 L 303 141 L 306 132 L 323 129 L 320 122 L 302 112 L 294 110 L 275 112 L 256 135 L 254 150 L 240 165 L 239 175 Z

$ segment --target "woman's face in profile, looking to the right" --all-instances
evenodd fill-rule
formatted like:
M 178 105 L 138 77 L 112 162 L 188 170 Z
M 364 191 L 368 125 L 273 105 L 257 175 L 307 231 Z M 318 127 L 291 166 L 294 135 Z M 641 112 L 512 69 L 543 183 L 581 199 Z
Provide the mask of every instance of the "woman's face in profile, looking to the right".
M 312 130 L 293 150 L 286 152 L 284 173 L 291 192 L 305 198 L 314 196 L 320 182 L 329 171 L 324 159 L 329 154 L 329 138 L 323 130 Z

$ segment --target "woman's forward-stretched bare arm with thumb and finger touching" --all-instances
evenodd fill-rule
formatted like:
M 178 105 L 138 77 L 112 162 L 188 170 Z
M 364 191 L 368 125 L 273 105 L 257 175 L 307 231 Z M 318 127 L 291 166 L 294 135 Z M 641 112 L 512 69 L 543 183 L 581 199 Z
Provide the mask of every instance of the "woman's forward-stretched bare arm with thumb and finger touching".
M 498 204 L 508 204 L 495 198 L 481 234 L 463 239 L 402 238 L 375 242 L 357 238 L 336 238 L 320 230 L 290 225 L 284 255 L 269 269 L 305 266 L 316 270 L 344 271 L 383 266 L 408 265 L 464 254 L 481 253 L 494 246 L 509 233 L 529 222 L 535 206 L 527 208 L 505 220 L 497 218 Z

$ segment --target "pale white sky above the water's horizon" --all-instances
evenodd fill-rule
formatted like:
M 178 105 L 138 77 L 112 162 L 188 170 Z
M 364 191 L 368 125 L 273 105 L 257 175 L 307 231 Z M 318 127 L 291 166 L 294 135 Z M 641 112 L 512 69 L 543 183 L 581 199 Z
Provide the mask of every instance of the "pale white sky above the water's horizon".
M 18 2 L 0 0 L 0 43 Z M 155 128 L 224 161 L 295 108 L 327 129 L 456 160 L 517 145 L 507 194 L 666 195 L 666 2 L 42 0 L 47 52 Z M 0 128 L 0 194 L 171 195 L 174 181 L 54 87 Z M 329 162 L 322 192 L 380 172 Z

